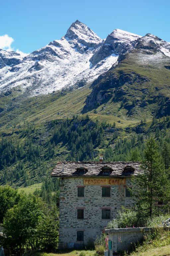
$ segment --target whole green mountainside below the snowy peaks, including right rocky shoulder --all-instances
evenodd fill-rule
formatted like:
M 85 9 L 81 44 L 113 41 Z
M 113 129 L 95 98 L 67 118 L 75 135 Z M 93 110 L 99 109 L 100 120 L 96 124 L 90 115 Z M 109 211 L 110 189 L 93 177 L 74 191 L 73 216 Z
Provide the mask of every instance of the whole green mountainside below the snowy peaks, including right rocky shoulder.
M 127 161 L 137 148 L 141 159 L 151 134 L 160 151 L 170 143 L 170 120 L 163 117 L 170 113 L 170 58 L 157 41 L 139 39 L 91 85 L 31 98 L 19 87 L 2 93 L 0 183 L 33 185 L 58 160 L 97 160 L 100 152 L 105 160 Z

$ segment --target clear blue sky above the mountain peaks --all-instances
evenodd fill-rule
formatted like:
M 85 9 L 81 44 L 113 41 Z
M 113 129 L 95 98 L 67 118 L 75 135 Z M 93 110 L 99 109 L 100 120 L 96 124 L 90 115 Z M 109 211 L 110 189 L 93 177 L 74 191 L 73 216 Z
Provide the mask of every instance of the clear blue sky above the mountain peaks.
M 0 8 L 4 49 L 31 53 L 60 39 L 77 19 L 101 38 L 119 28 L 170 42 L 169 0 L 2 0 Z

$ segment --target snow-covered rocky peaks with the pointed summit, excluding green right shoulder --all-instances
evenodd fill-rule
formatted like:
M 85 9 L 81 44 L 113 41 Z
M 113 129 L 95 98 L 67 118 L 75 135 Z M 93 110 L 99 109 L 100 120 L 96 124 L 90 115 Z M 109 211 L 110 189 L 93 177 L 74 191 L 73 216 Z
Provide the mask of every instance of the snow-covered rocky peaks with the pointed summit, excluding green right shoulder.
M 117 62 L 120 54 L 130 50 L 137 38 L 140 36 L 117 29 L 102 40 L 77 20 L 60 40 L 18 58 L 16 64 L 4 62 L 0 90 L 19 87 L 28 96 L 34 96 L 92 83 Z

